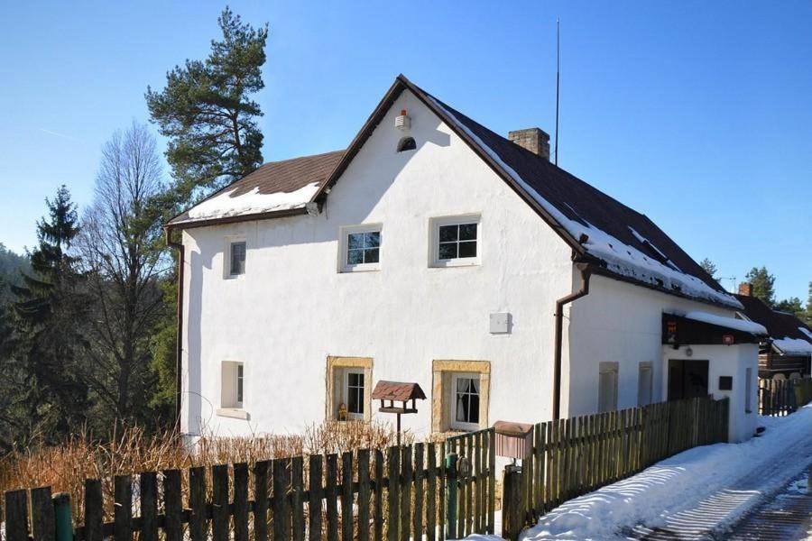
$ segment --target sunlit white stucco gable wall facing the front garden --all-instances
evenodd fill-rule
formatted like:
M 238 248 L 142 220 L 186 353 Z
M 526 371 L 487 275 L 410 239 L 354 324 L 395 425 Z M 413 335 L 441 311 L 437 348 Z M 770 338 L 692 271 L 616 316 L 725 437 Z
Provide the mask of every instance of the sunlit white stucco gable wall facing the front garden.
M 397 153 L 402 108 L 418 149 Z M 469 213 L 481 215 L 481 265 L 430 268 L 429 220 Z M 383 224 L 381 270 L 337 272 L 339 227 L 374 223 Z M 234 280 L 223 272 L 231 237 L 247 243 L 247 271 Z M 570 249 L 409 92 L 322 214 L 189 229 L 183 243 L 188 433 L 295 432 L 322 420 L 328 355 L 372 357 L 373 383 L 420 383 L 429 400 L 403 423 L 421 433 L 431 426 L 432 360 L 491 362 L 489 424 L 550 416 L 552 315 L 573 288 Z M 489 333 L 492 312 L 512 314 L 510 334 Z M 248 420 L 216 415 L 223 361 L 245 363 Z

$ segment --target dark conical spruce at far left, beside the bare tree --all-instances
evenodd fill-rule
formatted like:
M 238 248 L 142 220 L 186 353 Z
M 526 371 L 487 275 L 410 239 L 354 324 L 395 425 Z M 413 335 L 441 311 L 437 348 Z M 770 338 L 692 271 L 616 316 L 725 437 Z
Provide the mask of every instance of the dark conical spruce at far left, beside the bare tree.
M 42 419 L 47 436 L 67 434 L 81 424 L 88 389 L 78 376 L 81 350 L 86 342 L 81 322 L 88 298 L 81 291 L 83 280 L 78 258 L 70 254 L 78 234 L 76 206 L 68 188 L 46 199 L 48 216 L 37 223 L 38 245 L 31 253 L 31 273 L 23 285 L 12 290 L 17 347 L 26 378 L 23 402 L 33 416 Z

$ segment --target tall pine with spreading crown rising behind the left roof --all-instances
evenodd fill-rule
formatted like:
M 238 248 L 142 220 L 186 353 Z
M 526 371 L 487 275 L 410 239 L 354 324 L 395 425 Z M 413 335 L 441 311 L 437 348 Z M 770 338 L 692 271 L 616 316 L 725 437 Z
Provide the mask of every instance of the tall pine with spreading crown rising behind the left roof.
M 218 19 L 222 41 L 206 60 L 186 60 L 166 75 L 161 91 L 147 88 L 152 122 L 169 138 L 166 158 L 176 185 L 176 205 L 244 177 L 263 162 L 263 113 L 249 96 L 264 87 L 267 24 L 254 29 L 226 7 Z M 198 193 L 199 195 L 199 193 Z

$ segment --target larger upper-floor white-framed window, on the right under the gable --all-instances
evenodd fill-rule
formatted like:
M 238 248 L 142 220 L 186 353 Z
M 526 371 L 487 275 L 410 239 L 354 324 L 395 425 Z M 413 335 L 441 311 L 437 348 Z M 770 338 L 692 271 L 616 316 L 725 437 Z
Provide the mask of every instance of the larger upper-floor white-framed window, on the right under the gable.
M 435 218 L 431 227 L 431 262 L 436 267 L 475 265 L 480 261 L 478 215 Z

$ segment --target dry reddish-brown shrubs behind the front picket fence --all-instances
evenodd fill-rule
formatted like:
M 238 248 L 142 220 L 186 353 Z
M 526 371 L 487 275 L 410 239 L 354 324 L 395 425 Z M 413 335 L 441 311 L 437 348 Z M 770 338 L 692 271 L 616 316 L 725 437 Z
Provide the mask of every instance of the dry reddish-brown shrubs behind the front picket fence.
M 404 445 L 414 439 L 408 431 L 401 436 Z M 0 493 L 39 486 L 50 486 L 53 492 L 69 492 L 74 515 L 80 520 L 84 515 L 81 500 L 85 480 L 99 479 L 109 516 L 116 475 L 384 448 L 395 445 L 396 437 L 389 425 L 356 421 L 312 425 L 300 435 L 208 434 L 194 445 L 171 432 L 148 436 L 140 428 L 127 428 L 104 442 L 82 432 L 62 445 L 29 447 L 0 458 Z M 188 490 L 187 483 L 184 475 L 184 492 Z

